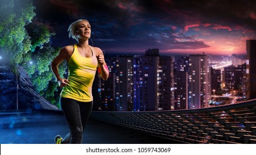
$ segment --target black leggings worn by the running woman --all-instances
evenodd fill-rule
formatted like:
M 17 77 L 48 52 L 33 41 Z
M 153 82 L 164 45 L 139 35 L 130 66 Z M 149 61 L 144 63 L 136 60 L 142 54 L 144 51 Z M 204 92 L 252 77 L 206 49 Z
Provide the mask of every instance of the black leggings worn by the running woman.
M 93 101 L 80 102 L 74 99 L 61 97 L 60 105 L 62 106 L 71 133 L 68 133 L 62 143 L 83 143 L 83 131 L 91 114 Z

